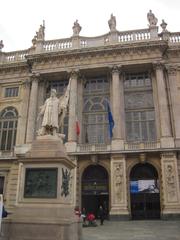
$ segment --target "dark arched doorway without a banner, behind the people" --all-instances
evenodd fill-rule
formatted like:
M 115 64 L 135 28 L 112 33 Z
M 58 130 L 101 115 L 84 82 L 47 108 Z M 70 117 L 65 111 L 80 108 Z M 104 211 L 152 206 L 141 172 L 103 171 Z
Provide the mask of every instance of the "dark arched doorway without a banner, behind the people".
M 92 212 L 96 218 L 99 206 L 103 206 L 106 216 L 109 212 L 108 172 L 100 165 L 88 166 L 82 175 L 82 208 Z

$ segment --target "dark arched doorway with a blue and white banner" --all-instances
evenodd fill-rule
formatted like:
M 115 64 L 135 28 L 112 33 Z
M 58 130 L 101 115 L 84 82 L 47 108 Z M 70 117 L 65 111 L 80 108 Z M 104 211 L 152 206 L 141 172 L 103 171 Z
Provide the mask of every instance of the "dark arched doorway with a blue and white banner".
M 158 172 L 149 163 L 135 165 L 130 173 L 132 219 L 159 219 L 160 193 Z

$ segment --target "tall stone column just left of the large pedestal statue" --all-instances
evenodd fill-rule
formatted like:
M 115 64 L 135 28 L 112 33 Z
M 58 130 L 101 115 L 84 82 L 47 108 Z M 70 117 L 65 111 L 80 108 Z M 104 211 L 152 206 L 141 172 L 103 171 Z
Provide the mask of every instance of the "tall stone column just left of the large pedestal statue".
M 36 117 L 37 117 L 37 98 L 38 98 L 38 80 L 39 74 L 31 76 L 31 93 L 29 99 L 28 123 L 26 142 L 30 143 L 35 137 Z

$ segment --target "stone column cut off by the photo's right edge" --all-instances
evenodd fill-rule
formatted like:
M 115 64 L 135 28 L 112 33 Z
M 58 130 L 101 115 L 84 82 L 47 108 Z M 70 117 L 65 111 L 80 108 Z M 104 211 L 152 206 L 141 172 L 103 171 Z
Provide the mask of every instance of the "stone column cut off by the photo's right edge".
M 173 113 L 174 137 L 176 147 L 180 147 L 180 95 L 178 89 L 178 69 L 176 66 L 166 66 L 169 79 L 171 107 Z

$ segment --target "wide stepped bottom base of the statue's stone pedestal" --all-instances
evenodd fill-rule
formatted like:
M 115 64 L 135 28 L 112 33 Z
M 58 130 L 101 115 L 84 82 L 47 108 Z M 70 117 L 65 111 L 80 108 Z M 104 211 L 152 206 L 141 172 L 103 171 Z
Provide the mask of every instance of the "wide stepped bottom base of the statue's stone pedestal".
M 81 225 L 72 208 L 20 207 L 2 225 L 1 240 L 80 240 Z

